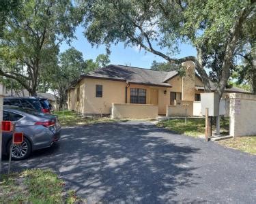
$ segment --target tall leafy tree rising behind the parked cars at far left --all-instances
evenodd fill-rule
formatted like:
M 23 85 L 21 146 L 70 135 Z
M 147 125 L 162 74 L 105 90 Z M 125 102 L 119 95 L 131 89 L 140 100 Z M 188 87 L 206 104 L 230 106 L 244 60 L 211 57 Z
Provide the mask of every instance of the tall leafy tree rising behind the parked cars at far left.
M 74 38 L 76 20 L 69 0 L 23 0 L 18 9 L 5 19 L 0 75 L 36 95 L 40 74 L 56 60 L 59 43 Z

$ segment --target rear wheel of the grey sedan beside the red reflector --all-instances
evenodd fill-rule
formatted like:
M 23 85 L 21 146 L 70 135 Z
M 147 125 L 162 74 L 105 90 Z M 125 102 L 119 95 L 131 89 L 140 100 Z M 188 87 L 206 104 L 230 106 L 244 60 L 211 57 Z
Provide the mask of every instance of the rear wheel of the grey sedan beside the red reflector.
M 10 156 L 10 148 L 11 148 L 12 141 L 8 143 L 8 156 Z M 31 154 L 31 143 L 29 139 L 24 137 L 23 143 L 21 143 L 20 146 L 15 146 L 13 147 L 12 150 L 12 159 L 13 160 L 23 160 Z

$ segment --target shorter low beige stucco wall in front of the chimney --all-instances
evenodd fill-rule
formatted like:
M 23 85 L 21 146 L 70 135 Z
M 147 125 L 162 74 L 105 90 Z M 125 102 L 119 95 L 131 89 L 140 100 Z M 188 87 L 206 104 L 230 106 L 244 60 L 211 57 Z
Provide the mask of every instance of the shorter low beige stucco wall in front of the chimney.
M 193 101 L 175 101 L 175 105 L 167 105 L 167 117 L 193 116 Z

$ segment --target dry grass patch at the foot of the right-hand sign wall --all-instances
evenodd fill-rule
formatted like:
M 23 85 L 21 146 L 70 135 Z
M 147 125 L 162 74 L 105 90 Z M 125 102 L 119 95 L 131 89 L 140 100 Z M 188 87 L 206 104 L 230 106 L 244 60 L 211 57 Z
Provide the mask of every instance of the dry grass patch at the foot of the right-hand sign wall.
M 235 137 L 232 139 L 218 141 L 218 143 L 226 146 L 227 148 L 233 148 L 256 155 L 256 135 L 248 137 Z

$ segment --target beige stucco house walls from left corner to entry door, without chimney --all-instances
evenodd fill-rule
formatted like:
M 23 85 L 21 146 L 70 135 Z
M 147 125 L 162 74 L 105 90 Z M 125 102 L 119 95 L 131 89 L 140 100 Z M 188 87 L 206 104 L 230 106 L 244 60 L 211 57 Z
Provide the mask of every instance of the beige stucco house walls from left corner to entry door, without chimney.
M 102 85 L 102 97 L 96 97 L 96 85 Z M 158 105 L 158 114 L 166 113 L 170 88 L 130 84 L 113 80 L 85 78 L 68 92 L 68 109 L 81 114 L 111 114 L 113 103 L 130 103 L 130 88 L 146 89 L 146 104 Z M 78 90 L 80 88 L 80 90 Z M 165 93 L 166 90 L 166 93 Z M 79 101 L 77 93 L 80 92 Z

